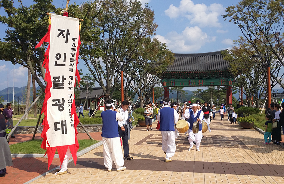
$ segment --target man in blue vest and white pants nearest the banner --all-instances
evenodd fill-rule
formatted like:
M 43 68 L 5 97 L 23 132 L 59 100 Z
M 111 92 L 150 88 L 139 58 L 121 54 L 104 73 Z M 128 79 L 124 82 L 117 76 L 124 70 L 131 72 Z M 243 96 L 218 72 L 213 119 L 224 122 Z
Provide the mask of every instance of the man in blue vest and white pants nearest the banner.
M 103 163 L 107 171 L 111 171 L 113 161 L 117 171 L 125 170 L 122 150 L 120 146 L 120 138 L 117 129 L 118 120 L 123 118 L 118 113 L 118 110 L 113 106 L 113 100 L 107 100 L 106 111 L 103 111 L 100 116 L 103 119 L 102 138 L 103 138 Z M 113 111 L 114 110 L 114 111 Z

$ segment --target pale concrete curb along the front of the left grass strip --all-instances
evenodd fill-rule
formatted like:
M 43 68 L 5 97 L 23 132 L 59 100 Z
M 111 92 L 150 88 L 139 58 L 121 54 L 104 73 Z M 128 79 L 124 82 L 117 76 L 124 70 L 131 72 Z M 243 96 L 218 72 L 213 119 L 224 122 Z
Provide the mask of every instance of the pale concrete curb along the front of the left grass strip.
M 96 147 L 100 146 L 103 144 L 103 141 L 99 141 L 96 144 L 93 144 L 92 146 L 85 148 L 79 152 L 77 152 L 77 157 L 84 155 L 85 153 L 95 149 Z M 11 154 L 12 158 L 47 158 L 47 155 L 45 154 Z M 54 158 L 59 158 L 58 154 L 54 155 Z

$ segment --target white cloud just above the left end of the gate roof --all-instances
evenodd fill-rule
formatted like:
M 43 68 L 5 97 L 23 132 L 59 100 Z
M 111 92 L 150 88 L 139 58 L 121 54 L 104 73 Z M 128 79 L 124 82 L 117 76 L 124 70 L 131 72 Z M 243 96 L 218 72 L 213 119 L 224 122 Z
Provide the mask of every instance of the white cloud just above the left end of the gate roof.
M 155 35 L 154 38 L 166 43 L 171 51 L 177 53 L 198 51 L 201 46 L 216 39 L 202 32 L 198 26 L 186 27 L 181 33 L 172 31 L 165 36 Z

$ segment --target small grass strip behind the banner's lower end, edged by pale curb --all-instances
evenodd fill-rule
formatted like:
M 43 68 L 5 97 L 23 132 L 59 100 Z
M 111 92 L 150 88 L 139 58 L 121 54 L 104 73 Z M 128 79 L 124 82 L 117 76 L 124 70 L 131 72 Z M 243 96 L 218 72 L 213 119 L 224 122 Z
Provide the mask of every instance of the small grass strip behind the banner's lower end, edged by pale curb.
M 97 140 L 90 140 L 90 139 L 83 139 L 78 140 L 79 142 L 79 150 L 85 149 L 99 141 Z M 42 144 L 42 140 L 30 140 L 23 143 L 17 143 L 10 145 L 11 153 L 24 153 L 24 154 L 30 154 L 30 153 L 45 153 L 45 150 L 40 147 Z M 57 151 L 56 151 L 57 153 Z

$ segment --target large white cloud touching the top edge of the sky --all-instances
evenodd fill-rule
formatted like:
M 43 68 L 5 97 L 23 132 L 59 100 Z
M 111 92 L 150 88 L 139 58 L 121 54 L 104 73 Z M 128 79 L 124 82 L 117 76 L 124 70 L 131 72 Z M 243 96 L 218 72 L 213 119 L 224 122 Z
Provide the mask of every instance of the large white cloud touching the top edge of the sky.
M 203 3 L 194 4 L 191 0 L 181 0 L 179 7 L 171 4 L 164 12 L 171 19 L 179 16 L 186 17 L 190 20 L 190 24 L 199 27 L 220 27 L 218 16 L 224 12 L 224 7 L 217 3 L 207 6 Z

